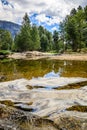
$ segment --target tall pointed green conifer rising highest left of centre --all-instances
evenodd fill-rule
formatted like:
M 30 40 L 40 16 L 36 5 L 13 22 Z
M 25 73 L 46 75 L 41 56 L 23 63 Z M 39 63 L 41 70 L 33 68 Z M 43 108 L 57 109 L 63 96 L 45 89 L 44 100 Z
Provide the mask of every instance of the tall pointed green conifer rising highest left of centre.
M 23 18 L 23 25 L 21 27 L 21 30 L 19 34 L 15 37 L 14 41 L 17 51 L 22 52 L 31 50 L 31 25 L 27 13 Z

